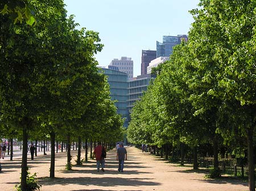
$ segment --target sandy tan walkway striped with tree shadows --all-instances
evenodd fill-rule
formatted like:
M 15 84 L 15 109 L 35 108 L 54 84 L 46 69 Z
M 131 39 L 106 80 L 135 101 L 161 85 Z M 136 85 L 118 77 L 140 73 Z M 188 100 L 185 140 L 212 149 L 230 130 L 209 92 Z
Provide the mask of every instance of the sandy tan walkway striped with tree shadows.
M 142 153 L 134 147 L 126 147 L 128 160 L 125 161 L 123 173 L 118 172 L 115 150 L 109 151 L 106 159 L 106 171 L 97 172 L 95 160 L 72 171 L 65 171 L 66 152 L 56 154 L 55 179 L 49 179 L 50 156 L 38 155 L 34 161 L 28 160 L 31 173 L 38 172 L 42 191 L 243 191 L 248 190 L 247 183 L 236 179 L 204 179 L 203 171 L 195 172 L 192 167 L 179 167 L 148 153 Z M 39 154 L 42 154 L 39 153 Z M 82 153 L 84 155 L 84 153 Z M 72 151 L 76 158 L 75 151 Z M 75 164 L 74 159 L 72 163 Z M 11 162 L 8 158 L 1 160 L 3 172 L 0 173 L 0 189 L 14 190 L 20 177 L 20 158 Z

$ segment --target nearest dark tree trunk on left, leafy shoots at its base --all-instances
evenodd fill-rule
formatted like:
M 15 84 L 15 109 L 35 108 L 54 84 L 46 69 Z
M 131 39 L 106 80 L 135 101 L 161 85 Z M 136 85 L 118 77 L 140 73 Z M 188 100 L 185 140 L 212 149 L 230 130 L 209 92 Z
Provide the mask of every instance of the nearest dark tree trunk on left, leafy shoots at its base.
M 28 139 L 28 133 L 27 133 L 27 127 L 23 126 L 23 135 L 22 135 L 22 175 L 21 175 L 21 190 L 26 191 L 27 190 L 27 139 Z

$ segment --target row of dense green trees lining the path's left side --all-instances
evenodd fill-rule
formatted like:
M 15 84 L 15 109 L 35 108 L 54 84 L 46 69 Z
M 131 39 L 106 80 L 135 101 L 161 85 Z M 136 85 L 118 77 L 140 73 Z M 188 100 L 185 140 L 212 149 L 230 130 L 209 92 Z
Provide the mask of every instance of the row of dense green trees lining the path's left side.
M 68 144 L 68 167 L 71 141 L 122 139 L 123 120 L 94 58 L 103 47 L 98 33 L 77 29 L 63 0 L 1 1 L 0 26 L 0 131 L 22 138 L 22 190 L 28 140 L 51 139 L 54 177 L 56 136 Z

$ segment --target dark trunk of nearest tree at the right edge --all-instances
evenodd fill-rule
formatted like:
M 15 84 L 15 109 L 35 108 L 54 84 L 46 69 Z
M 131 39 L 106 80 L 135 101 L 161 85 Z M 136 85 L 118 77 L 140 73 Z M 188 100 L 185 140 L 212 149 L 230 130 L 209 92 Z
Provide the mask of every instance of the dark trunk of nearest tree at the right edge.
M 254 177 L 254 156 L 253 156 L 253 127 L 246 130 L 247 133 L 247 150 L 248 150 L 248 177 L 249 191 L 255 191 Z

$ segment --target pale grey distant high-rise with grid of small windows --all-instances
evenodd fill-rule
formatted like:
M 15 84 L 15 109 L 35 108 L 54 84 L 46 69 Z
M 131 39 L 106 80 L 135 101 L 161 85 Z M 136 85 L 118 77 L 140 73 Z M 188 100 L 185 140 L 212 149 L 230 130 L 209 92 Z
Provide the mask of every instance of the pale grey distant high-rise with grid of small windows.
M 133 79 L 133 61 L 131 58 L 121 57 L 121 60 L 114 58 L 109 65 L 118 67 L 119 71 L 123 71 L 128 74 L 129 79 Z

